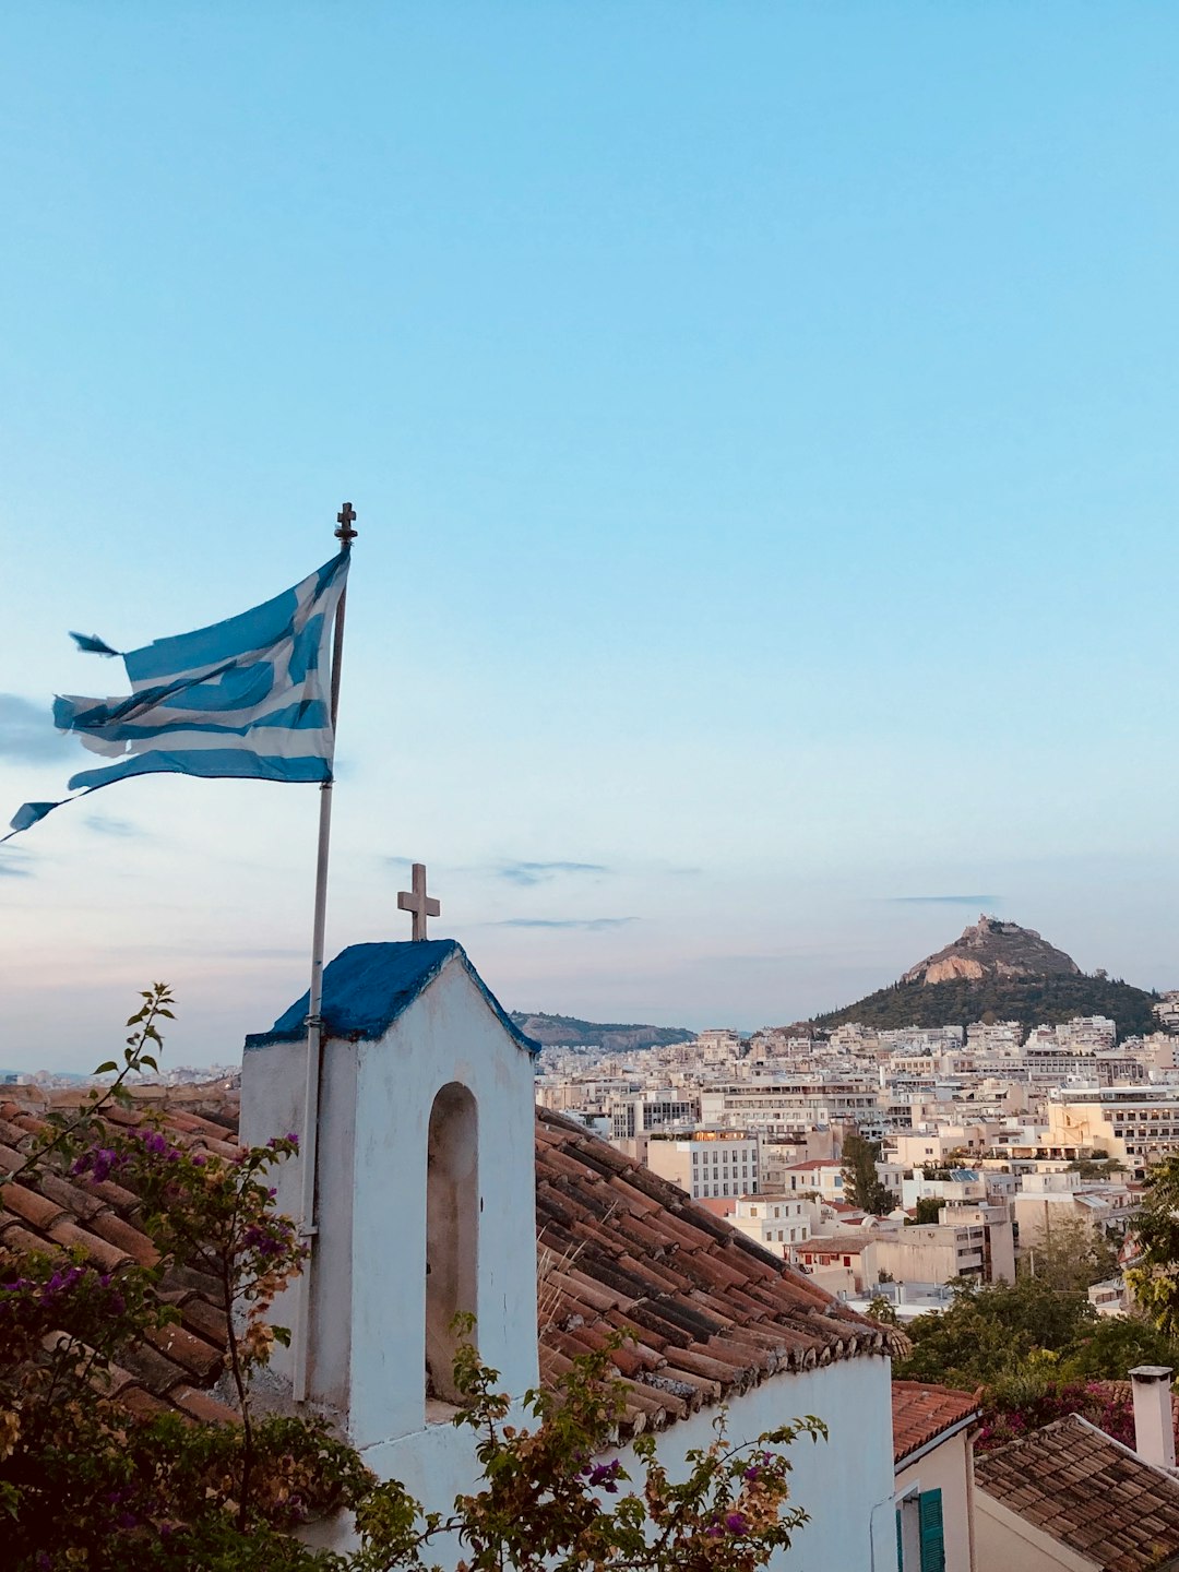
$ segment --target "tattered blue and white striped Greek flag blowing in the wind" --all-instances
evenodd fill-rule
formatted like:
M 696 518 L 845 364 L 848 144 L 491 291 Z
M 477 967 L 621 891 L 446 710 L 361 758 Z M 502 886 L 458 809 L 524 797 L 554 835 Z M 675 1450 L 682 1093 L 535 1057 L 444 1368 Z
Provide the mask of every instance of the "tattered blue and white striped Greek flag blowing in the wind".
M 113 761 L 74 775 L 69 789 L 159 772 L 332 780 L 330 640 L 347 564 L 343 550 L 252 612 L 129 651 L 129 698 L 58 698 L 58 731 Z M 119 654 L 101 638 L 71 638 L 91 654 Z M 27 802 L 11 828 L 27 830 L 60 806 Z

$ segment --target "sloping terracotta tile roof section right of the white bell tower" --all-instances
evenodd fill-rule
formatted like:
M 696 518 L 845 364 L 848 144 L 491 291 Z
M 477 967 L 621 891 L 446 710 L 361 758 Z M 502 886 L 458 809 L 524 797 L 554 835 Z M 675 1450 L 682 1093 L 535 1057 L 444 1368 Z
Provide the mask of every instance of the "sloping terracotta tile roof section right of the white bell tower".
M 536 1231 L 541 1377 L 555 1382 L 578 1353 L 630 1333 L 613 1360 L 632 1431 L 662 1427 L 780 1371 L 902 1342 L 670 1181 L 544 1108 Z

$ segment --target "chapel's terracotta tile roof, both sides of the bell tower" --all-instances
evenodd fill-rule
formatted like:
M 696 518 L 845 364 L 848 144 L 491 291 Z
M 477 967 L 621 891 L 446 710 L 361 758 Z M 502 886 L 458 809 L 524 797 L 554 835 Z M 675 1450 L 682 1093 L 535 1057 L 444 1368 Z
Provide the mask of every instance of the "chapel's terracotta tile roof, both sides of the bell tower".
M 200 1113 L 152 1099 L 176 1144 L 233 1155 L 236 1100 Z M 0 1170 L 20 1166 L 44 1129 L 27 1104 L 0 1104 Z M 138 1126 L 140 1110 L 115 1108 Z M 41 1171 L 0 1192 L 0 1250 L 77 1245 L 104 1270 L 156 1259 L 138 1199 L 121 1185 L 74 1184 Z M 905 1349 L 902 1333 L 857 1314 L 762 1250 L 684 1190 L 659 1179 L 561 1115 L 536 1115 L 538 1335 L 541 1379 L 616 1331 L 630 1434 L 660 1429 L 767 1376 Z M 860 1247 L 857 1242 L 855 1248 Z M 171 1409 L 231 1420 L 209 1388 L 223 1366 L 225 1305 L 204 1273 L 173 1265 L 163 1297 L 181 1320 L 141 1344 L 116 1372 L 118 1401 L 137 1413 Z

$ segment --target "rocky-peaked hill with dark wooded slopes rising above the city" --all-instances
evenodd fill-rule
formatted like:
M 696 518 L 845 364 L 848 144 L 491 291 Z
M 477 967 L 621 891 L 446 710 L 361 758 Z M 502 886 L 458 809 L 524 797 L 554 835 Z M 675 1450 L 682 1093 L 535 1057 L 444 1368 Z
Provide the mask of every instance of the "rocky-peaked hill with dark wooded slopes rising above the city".
M 1118 1036 L 1127 1038 L 1157 1028 L 1152 1014 L 1157 1000 L 1157 994 L 1104 973 L 1088 976 L 1034 929 L 981 916 L 890 987 L 816 1016 L 813 1025 L 830 1030 L 857 1020 L 888 1031 L 1019 1020 L 1023 1027 L 1039 1027 L 1075 1016 L 1108 1016 L 1118 1023 Z

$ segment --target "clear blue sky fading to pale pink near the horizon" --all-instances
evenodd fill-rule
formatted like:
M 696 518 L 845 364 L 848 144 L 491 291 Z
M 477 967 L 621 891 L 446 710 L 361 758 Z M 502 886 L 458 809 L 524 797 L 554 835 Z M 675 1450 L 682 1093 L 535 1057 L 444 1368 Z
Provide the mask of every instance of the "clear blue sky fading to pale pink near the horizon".
M 118 687 L 66 629 L 242 610 L 347 497 L 332 949 L 417 858 L 509 1008 L 792 1020 L 982 905 L 1179 987 L 1177 68 L 1137 3 L 8 16 L 13 810 Z M 0 1064 L 154 978 L 233 1060 L 314 817 L 141 780 L 9 843 Z

